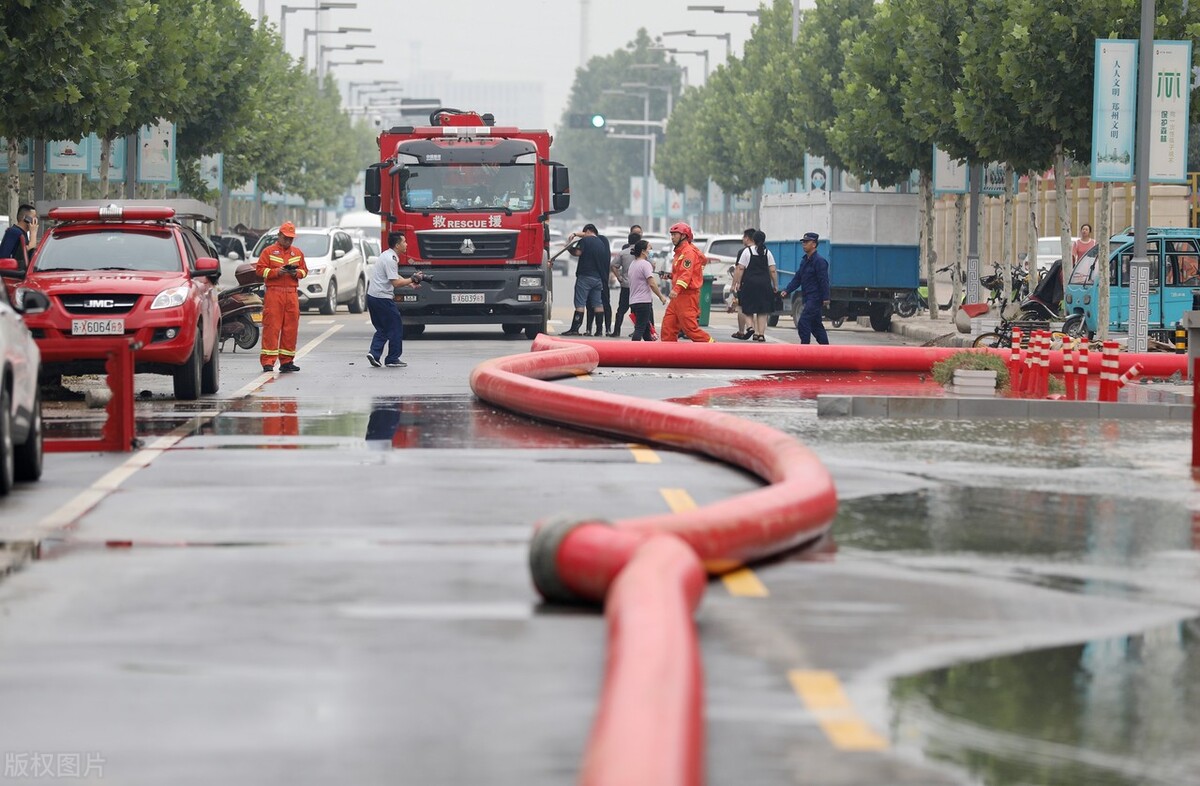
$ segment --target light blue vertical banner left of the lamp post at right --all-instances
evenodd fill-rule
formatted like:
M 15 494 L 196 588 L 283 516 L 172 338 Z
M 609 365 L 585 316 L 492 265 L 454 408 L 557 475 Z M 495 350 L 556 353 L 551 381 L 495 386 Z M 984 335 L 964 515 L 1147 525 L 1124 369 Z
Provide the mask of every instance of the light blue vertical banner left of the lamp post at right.
M 1138 108 L 1138 42 L 1096 41 L 1092 83 L 1092 180 L 1133 180 Z

